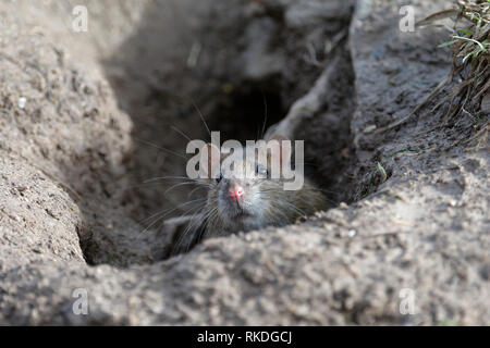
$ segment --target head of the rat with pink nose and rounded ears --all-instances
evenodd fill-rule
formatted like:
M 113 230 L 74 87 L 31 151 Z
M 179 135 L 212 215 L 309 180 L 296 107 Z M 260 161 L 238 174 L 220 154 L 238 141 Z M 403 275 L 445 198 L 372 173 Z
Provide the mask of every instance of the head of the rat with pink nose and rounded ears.
M 207 201 L 213 228 L 246 232 L 279 223 L 278 214 L 272 212 L 285 194 L 283 181 L 271 177 L 271 163 L 278 160 L 282 164 L 289 162 L 291 157 L 291 152 L 281 146 L 280 149 L 280 154 L 268 151 L 267 162 L 264 163 L 256 159 L 255 148 L 234 148 L 232 153 L 222 154 L 213 145 L 207 145 L 208 170 L 216 173 L 215 178 L 208 179 L 210 189 Z

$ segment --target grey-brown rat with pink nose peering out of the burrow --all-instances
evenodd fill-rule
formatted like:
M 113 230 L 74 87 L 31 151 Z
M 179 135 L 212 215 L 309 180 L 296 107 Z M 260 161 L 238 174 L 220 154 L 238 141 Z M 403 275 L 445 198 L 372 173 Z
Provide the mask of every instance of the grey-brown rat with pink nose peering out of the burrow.
M 281 136 L 274 136 L 279 140 L 280 163 L 291 161 L 291 151 L 284 148 L 282 141 L 287 140 Z M 219 149 L 211 144 L 207 147 L 213 151 Z M 241 150 L 245 153 L 247 147 Z M 236 175 L 240 171 L 230 171 L 220 166 L 216 178 L 207 178 L 207 200 L 200 219 L 205 221 L 203 239 L 228 236 L 238 232 L 249 232 L 267 226 L 284 226 L 293 224 L 298 217 L 313 215 L 317 211 L 327 209 L 327 198 L 322 191 L 306 177 L 302 177 L 303 186 L 296 190 L 284 189 L 284 177 L 271 177 L 270 165 L 260 165 L 255 158 L 238 154 L 238 169 L 253 171 L 256 176 Z M 221 161 L 226 157 L 219 152 Z M 270 162 L 270 161 L 269 161 Z M 268 163 L 269 163 L 268 162 Z M 219 165 L 208 162 L 209 167 Z M 303 175 L 303 173 L 295 173 Z

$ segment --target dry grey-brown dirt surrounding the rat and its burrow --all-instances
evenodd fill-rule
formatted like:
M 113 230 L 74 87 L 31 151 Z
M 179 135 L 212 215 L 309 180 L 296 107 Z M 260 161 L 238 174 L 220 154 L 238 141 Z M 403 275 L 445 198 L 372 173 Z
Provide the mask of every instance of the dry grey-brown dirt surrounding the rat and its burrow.
M 489 324 L 488 113 L 384 130 L 450 69 L 442 29 L 399 29 L 404 4 L 446 1 L 2 1 L 0 323 Z M 151 216 L 203 195 L 146 183 L 185 173 L 172 126 L 206 138 L 200 111 L 254 139 L 266 110 L 302 117 L 332 209 L 166 258 Z

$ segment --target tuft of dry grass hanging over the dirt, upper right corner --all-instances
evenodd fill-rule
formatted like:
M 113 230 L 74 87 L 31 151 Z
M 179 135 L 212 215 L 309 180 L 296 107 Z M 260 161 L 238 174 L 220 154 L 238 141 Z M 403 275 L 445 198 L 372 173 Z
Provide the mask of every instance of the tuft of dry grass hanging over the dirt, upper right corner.
M 436 99 L 438 102 L 431 112 L 445 108 L 441 126 L 464 114 L 478 120 L 480 129 L 488 129 L 490 0 L 455 0 L 452 9 L 433 13 L 417 25 L 436 25 L 448 18 L 452 20 L 453 25 L 444 27 L 450 30 L 451 39 L 440 47 L 452 50 L 450 73 L 411 114 L 378 133 L 400 126 Z

